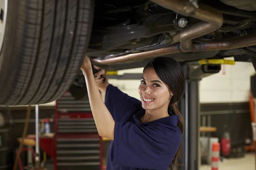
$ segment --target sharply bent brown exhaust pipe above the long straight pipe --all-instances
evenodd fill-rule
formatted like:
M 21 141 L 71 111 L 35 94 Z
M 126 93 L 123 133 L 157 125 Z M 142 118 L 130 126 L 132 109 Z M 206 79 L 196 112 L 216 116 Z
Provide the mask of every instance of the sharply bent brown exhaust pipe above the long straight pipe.
M 204 22 L 195 24 L 180 33 L 180 46 L 183 50 L 192 48 L 192 40 L 218 30 L 223 24 L 223 15 L 210 6 L 200 4 L 196 8 L 189 0 L 151 0 L 152 2 L 170 9 L 178 14 L 194 17 Z

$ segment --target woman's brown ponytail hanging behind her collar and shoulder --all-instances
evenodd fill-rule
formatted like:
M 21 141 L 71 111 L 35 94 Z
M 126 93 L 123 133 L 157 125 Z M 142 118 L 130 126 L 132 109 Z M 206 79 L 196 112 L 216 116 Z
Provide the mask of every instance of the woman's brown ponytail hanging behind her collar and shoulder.
M 177 127 L 180 128 L 181 133 L 183 133 L 184 130 L 184 119 L 180 114 L 179 109 L 177 108 L 176 104 L 175 105 L 171 105 L 170 110 L 172 111 L 173 114 L 180 116 L 179 121 L 177 123 Z M 175 154 L 173 160 L 172 160 L 172 164 L 169 166 L 169 168 L 171 170 L 177 170 L 180 166 L 179 161 L 180 161 L 180 156 L 181 156 L 181 142 L 180 142 L 180 146 L 177 150 L 177 153 Z

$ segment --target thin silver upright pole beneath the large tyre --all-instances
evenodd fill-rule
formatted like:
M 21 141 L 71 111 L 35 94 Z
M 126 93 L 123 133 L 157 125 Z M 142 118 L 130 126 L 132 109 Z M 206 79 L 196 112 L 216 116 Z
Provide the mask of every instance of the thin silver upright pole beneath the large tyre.
M 39 105 L 35 105 L 35 169 L 40 169 L 40 150 L 39 150 Z

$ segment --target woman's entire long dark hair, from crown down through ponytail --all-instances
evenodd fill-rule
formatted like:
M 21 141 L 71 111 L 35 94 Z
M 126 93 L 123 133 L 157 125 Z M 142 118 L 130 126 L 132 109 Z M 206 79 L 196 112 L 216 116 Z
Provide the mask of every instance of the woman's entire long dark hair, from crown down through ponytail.
M 183 68 L 179 62 L 171 59 L 169 57 L 156 57 L 149 62 L 146 68 L 154 68 L 157 76 L 168 85 L 169 90 L 172 91 L 173 96 L 169 103 L 169 110 L 172 111 L 173 114 L 180 116 L 177 126 L 180 128 L 181 133 L 183 133 L 184 129 L 184 120 L 180 114 L 180 111 L 177 108 L 177 102 L 183 94 L 184 86 L 185 86 L 185 78 L 183 73 Z M 143 70 L 143 71 L 144 71 Z M 171 170 L 177 170 L 179 167 L 181 155 L 181 143 L 177 150 L 177 153 L 172 160 L 172 164 L 170 165 Z

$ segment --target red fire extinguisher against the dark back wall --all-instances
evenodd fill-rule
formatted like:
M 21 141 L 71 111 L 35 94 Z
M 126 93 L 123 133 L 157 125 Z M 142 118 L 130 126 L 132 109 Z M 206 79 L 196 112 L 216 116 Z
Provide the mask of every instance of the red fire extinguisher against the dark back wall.
M 230 133 L 227 130 L 227 125 L 224 125 L 223 133 L 221 135 L 221 156 L 229 157 L 231 152 Z

